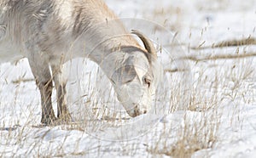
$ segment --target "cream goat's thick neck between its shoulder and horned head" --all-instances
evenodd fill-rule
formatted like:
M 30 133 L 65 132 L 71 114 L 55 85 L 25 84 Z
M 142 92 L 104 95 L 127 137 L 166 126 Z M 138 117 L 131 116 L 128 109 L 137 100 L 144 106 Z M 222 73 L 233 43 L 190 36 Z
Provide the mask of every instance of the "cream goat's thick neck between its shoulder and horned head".
M 116 31 L 115 28 L 98 28 L 96 31 L 92 29 L 79 38 L 77 55 L 93 60 L 103 71 L 120 65 L 135 48 L 143 50 L 131 34 L 123 30 Z

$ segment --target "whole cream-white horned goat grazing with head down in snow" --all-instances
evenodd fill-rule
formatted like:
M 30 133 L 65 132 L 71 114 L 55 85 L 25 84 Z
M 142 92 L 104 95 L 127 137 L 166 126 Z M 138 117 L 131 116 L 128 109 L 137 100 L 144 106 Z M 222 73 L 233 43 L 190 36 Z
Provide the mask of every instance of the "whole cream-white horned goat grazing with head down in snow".
M 146 113 L 157 82 L 152 42 L 142 48 L 102 0 L 1 0 L 0 61 L 26 57 L 41 93 L 44 124 L 69 121 L 63 64 L 83 57 L 108 76 L 130 116 Z M 51 73 L 50 73 L 51 71 Z M 55 82 L 57 118 L 51 103 Z

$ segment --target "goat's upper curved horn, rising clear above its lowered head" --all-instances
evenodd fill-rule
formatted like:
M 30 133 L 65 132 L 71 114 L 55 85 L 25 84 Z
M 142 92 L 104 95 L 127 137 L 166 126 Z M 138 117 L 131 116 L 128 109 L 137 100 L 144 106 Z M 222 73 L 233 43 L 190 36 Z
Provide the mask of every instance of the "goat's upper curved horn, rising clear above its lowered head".
M 148 54 L 151 54 L 152 57 L 154 59 L 157 58 L 157 54 L 156 54 L 156 49 L 154 48 L 154 44 L 153 42 L 151 42 L 148 37 L 144 36 L 142 32 L 137 31 L 137 30 L 131 30 L 131 33 L 137 35 L 137 37 L 139 37 L 144 44 L 144 47 L 146 48 L 146 50 L 148 51 Z

